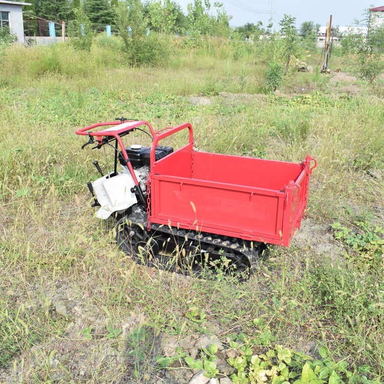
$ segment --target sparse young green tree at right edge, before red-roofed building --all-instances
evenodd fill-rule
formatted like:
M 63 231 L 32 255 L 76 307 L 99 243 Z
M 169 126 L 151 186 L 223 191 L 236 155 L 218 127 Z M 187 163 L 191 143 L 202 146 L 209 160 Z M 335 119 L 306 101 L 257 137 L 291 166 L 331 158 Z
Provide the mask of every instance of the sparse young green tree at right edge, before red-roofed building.
M 371 84 L 384 70 L 384 26 L 369 9 L 355 24 L 342 40 L 343 53 L 356 75 Z

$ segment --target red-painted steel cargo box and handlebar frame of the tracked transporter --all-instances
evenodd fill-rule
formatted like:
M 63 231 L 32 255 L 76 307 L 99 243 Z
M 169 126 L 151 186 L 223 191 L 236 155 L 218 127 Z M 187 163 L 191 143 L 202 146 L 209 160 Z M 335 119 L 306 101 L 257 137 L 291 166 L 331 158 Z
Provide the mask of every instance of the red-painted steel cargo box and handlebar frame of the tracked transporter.
M 150 155 L 151 171 L 147 182 L 148 186 L 151 185 L 151 199 L 148 199 L 147 202 L 148 229 L 150 229 L 151 223 L 170 224 L 175 227 L 217 233 L 245 240 L 289 245 L 293 233 L 296 228 L 300 228 L 301 220 L 305 217 L 309 176 L 317 166 L 315 159 L 307 156 L 301 164 L 296 164 L 207 154 L 195 151 L 193 129 L 189 123 L 160 131 L 154 131 L 152 125 L 146 121 L 128 121 L 122 124 L 124 126 L 121 129 L 116 122 L 93 124 L 77 130 L 76 134 L 93 136 L 100 144 L 102 143 L 102 136 L 114 137 L 121 147 L 124 159 L 128 160 L 119 135 L 140 125 L 146 125 L 150 129 L 153 142 Z M 106 125 L 114 125 L 114 127 L 99 132 L 87 132 L 98 126 Z M 165 158 L 155 161 L 156 146 L 159 145 L 159 142 L 184 129 L 189 131 L 188 144 Z M 228 180 L 205 178 L 202 169 L 205 172 L 205 165 L 209 161 L 219 166 L 220 175 Z M 311 167 L 312 161 L 314 165 Z M 222 167 L 230 168 L 232 163 L 245 165 L 243 172 L 242 166 L 236 168 L 236 172 L 243 178 L 252 176 L 252 167 L 259 167 L 261 170 L 264 167 L 263 180 L 272 181 L 272 184 L 273 178 L 283 180 L 285 177 L 284 172 L 280 169 L 287 169 L 288 175 L 294 175 L 294 177 L 287 179 L 281 189 L 267 188 L 265 185 L 237 184 L 237 175 L 233 169 L 229 169 L 228 172 L 221 171 Z M 135 184 L 138 185 L 131 163 L 127 162 L 127 165 Z M 194 177 L 194 167 L 196 171 L 199 170 L 200 178 Z M 269 174 L 270 169 L 279 172 Z M 217 205 L 220 205 L 221 201 L 228 201 L 229 205 L 220 210 L 216 206 L 210 206 L 209 200 Z M 176 206 L 178 202 L 181 204 L 180 206 Z M 244 212 L 242 220 L 239 218 L 239 211 L 241 210 Z M 259 211 L 261 211 L 261 216 L 264 215 L 264 218 L 259 219 L 258 223 L 257 219 L 247 217 L 247 214 L 249 216 L 247 210 L 254 212 L 255 216 L 258 216 Z M 207 217 L 208 219 L 206 219 Z M 234 225 L 232 222 L 236 222 L 238 225 Z M 257 224 L 260 226 L 255 227 Z

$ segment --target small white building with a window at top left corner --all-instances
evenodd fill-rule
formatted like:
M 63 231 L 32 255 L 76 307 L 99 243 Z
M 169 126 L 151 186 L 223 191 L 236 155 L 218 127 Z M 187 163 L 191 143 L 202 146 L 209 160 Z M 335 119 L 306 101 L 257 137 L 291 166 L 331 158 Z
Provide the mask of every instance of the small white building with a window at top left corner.
M 17 40 L 24 43 L 23 5 L 31 3 L 0 0 L 0 29 L 8 27 Z

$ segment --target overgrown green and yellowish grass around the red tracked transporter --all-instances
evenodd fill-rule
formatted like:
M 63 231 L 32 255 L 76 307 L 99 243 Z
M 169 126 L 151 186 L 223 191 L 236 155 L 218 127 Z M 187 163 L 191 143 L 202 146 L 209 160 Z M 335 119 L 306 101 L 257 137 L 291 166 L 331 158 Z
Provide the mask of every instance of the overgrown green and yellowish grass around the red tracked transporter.
M 96 177 L 95 154 L 74 134 L 123 115 L 158 129 L 189 121 L 204 151 L 296 162 L 311 154 L 311 222 L 366 214 L 383 227 L 383 181 L 367 174 L 384 167 L 377 89 L 349 95 L 316 72 L 292 73 L 278 97 L 266 94 L 264 52 L 253 66 L 253 52 L 183 48 L 161 67 L 126 68 L 115 51 L 99 57 L 108 49 L 13 47 L 0 71 L 0 381 L 143 382 L 156 377 L 153 357 L 168 338 L 239 332 L 262 334 L 267 346 L 326 345 L 382 380 L 382 264 L 357 268 L 292 244 L 272 247 L 243 284 L 138 266 L 116 248 L 113 223 L 93 216 L 85 183 Z M 309 92 L 297 93 L 303 86 Z

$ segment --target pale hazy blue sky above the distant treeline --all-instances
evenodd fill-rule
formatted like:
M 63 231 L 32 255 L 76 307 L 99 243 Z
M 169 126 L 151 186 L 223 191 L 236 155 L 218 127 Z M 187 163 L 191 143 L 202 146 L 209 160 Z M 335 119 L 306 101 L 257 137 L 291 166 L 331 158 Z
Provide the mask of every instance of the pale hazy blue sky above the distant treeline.
M 193 0 L 176 0 L 186 13 L 187 4 Z M 213 4 L 216 0 L 210 0 Z M 296 26 L 300 27 L 303 22 L 313 21 L 322 26 L 327 25 L 329 16 L 332 15 L 332 25 L 344 27 L 350 26 L 354 20 L 361 19 L 367 8 L 380 7 L 381 3 L 372 4 L 372 0 L 219 0 L 223 3 L 229 15 L 232 15 L 231 26 L 240 26 L 245 23 L 256 24 L 259 20 L 266 27 L 270 18 L 272 8 L 273 29 L 279 30 L 279 21 L 284 13 L 296 17 Z M 204 3 L 204 1 L 203 1 Z

